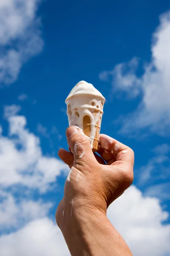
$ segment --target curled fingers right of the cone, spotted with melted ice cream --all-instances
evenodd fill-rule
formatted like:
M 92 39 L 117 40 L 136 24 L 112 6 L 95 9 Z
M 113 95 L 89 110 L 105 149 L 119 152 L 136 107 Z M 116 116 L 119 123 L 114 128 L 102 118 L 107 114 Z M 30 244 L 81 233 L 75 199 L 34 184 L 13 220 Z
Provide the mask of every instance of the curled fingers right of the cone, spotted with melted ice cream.
M 123 161 L 131 165 L 134 163 L 133 150 L 105 134 L 100 134 L 97 152 L 110 165 L 118 164 L 116 161 Z

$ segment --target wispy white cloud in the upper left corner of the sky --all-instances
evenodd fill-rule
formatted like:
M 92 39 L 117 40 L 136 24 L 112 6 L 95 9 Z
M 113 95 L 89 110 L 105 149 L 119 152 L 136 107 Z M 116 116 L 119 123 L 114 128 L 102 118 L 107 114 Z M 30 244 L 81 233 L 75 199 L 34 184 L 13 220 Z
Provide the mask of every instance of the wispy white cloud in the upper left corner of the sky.
M 42 51 L 40 19 L 36 17 L 42 0 L 0 1 L 0 85 L 17 80 L 29 58 Z

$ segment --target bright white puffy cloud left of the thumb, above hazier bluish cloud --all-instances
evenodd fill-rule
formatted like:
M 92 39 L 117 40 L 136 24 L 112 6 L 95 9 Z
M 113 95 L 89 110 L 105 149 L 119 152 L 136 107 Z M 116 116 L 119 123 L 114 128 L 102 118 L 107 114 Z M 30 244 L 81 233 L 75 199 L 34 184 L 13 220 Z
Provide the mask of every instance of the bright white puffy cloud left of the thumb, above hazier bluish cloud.
M 9 137 L 0 137 L 0 184 L 21 184 L 45 192 L 68 167 L 55 157 L 42 155 L 40 140 L 26 127 L 24 116 L 11 116 Z

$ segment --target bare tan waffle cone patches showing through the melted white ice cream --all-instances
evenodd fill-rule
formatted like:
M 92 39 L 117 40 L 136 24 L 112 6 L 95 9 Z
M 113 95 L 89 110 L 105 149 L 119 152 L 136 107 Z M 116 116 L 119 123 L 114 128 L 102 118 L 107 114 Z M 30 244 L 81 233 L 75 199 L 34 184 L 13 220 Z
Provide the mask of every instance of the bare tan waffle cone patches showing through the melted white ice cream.
M 98 149 L 98 144 L 99 144 L 99 134 L 100 134 L 100 127 L 99 127 L 99 121 L 96 123 L 96 134 L 94 137 L 94 142 L 93 142 L 93 152 L 97 151 Z M 91 120 L 90 116 L 85 116 L 83 119 L 83 132 L 86 136 L 90 137 L 91 133 Z

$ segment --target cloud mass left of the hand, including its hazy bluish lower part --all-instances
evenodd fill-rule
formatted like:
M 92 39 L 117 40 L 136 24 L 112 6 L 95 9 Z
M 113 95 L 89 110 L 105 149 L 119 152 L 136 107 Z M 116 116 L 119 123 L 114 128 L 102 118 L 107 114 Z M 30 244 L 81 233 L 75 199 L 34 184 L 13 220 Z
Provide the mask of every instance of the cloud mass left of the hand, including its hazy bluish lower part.
M 42 154 L 40 139 L 26 129 L 26 118 L 17 115 L 19 110 L 17 105 L 4 108 L 8 137 L 2 135 L 0 126 L 1 233 L 46 216 L 53 204 L 34 201 L 31 192 L 48 192 L 57 184 L 57 177 L 68 172 L 59 159 Z

